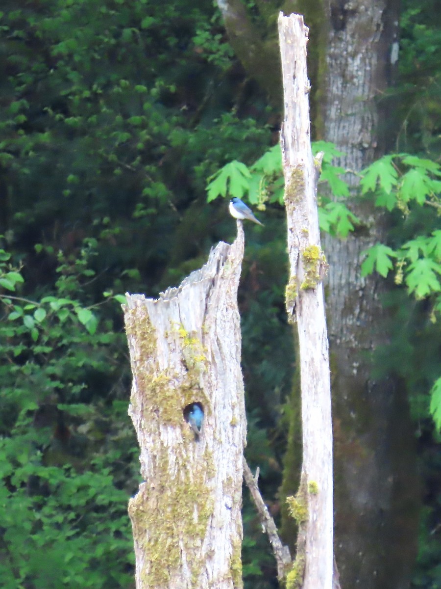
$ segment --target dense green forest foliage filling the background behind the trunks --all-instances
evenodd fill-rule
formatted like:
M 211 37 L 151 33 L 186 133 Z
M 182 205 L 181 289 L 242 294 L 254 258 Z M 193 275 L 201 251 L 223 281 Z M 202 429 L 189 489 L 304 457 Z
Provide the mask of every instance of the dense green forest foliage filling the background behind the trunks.
M 408 4 L 395 90 L 397 151 L 433 160 L 439 15 L 430 0 Z M 216 199 L 231 186 L 231 174 L 222 177 L 225 164 L 265 210 L 265 229 L 247 228 L 239 305 L 247 457 L 260 466 L 262 493 L 279 514 L 295 368 L 272 148 L 280 113 L 246 78 L 211 1 L 5 0 L 0 64 L 2 586 L 133 587 L 126 504 L 139 469 L 126 415 L 131 376 L 120 295 L 157 296 L 201 266 L 213 243 L 233 239 L 235 224 Z M 322 179 L 345 196 L 338 170 L 326 163 Z M 399 276 L 393 264 L 411 253 L 406 244 L 417 236 L 439 240 L 439 217 L 424 206 L 436 187 L 422 203 L 403 202 L 395 190 L 399 174 L 393 190 L 383 189 L 391 167 L 415 168 L 393 158 L 386 164 L 367 171 L 365 182 L 366 197 L 391 211 L 390 243 L 381 246 L 389 249 L 368 253 L 372 268 L 365 270 Z M 322 204 L 323 229 L 344 236 L 356 224 L 343 203 Z M 408 262 L 439 264 L 431 243 L 414 244 L 416 259 Z M 401 272 L 412 290 L 409 269 Z M 439 278 L 436 267 L 432 272 Z M 386 302 L 396 309 L 393 353 L 380 354 L 377 369 L 402 377 L 415 417 L 425 511 L 414 586 L 433 589 L 441 587 L 441 496 L 429 391 L 440 375 L 441 333 L 430 317 L 439 290 L 420 294 L 415 300 L 397 289 Z M 275 565 L 246 493 L 244 524 L 246 586 L 275 587 Z

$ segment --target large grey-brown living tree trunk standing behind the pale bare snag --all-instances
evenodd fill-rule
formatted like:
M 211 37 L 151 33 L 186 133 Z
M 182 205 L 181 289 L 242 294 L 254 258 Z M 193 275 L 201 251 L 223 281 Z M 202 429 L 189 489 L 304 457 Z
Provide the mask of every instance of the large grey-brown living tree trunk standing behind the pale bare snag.
M 345 152 L 337 164 L 358 172 L 384 145 L 378 99 L 392 77 L 397 3 L 332 1 L 330 25 L 325 139 Z M 355 194 L 358 177 L 346 179 Z M 413 432 L 405 391 L 393 379 L 372 378 L 370 356 L 389 341 L 381 304 L 385 282 L 360 274 L 362 252 L 384 240 L 385 222 L 372 203 L 355 199 L 349 206 L 362 226 L 346 240 L 325 239 L 336 554 L 342 587 L 402 589 L 417 538 Z

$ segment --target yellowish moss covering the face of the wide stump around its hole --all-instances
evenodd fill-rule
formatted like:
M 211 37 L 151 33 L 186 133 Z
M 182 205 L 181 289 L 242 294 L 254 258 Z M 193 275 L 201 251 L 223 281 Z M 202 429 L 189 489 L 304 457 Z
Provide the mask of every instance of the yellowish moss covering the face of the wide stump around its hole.
M 145 435 L 156 435 L 156 428 L 172 426 L 181 428 L 184 438 L 183 444 L 172 448 L 163 442 L 155 446 L 148 457 L 148 481 L 129 502 L 133 538 L 146 556 L 141 583 L 151 589 L 167 585 L 185 557 L 196 586 L 203 539 L 213 512 L 209 481 L 216 469 L 208 446 L 202 455 L 189 446 L 195 444 L 195 436 L 185 422 L 183 408 L 199 402 L 205 414 L 210 411 L 201 385 L 205 351 L 196 333 L 171 326 L 167 341 L 173 363 L 161 370 L 156 331 L 145 307 L 127 313 L 126 329 L 128 336 L 136 339 L 137 357 L 132 359 L 136 386 L 131 403 L 146 422 Z

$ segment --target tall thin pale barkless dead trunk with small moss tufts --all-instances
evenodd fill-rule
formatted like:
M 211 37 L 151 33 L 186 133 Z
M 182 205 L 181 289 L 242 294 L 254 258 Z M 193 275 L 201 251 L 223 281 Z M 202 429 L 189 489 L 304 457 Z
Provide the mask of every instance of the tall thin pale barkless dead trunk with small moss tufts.
M 302 391 L 303 464 L 299 492 L 290 509 L 299 524 L 298 547 L 288 585 L 333 587 L 332 426 L 328 335 L 316 203 L 320 161 L 310 145 L 306 71 L 308 27 L 303 16 L 279 16 L 285 117 L 280 133 L 290 278 L 286 309 L 298 325 Z M 335 585 L 338 579 L 335 578 Z

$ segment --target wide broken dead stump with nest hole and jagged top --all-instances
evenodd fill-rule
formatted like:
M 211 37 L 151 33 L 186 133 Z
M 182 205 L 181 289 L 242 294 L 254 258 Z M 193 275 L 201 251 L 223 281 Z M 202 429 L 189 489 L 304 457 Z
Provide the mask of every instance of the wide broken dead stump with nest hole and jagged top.
M 243 447 L 237 291 L 243 228 L 157 300 L 126 295 L 129 415 L 145 482 L 129 502 L 137 589 L 242 587 Z M 201 432 L 189 425 L 194 404 Z

